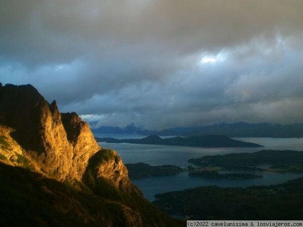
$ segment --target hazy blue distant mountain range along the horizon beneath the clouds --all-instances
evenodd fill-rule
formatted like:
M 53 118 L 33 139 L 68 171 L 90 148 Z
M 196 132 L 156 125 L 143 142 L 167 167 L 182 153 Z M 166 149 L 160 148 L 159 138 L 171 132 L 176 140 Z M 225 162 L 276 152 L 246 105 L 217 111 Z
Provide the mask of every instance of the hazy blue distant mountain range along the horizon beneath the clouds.
M 100 127 L 93 129 L 93 133 L 104 134 L 140 134 L 161 136 L 203 136 L 224 135 L 228 137 L 277 137 L 277 138 L 300 138 L 303 137 L 303 123 L 281 124 L 248 124 L 244 122 L 235 124 L 215 124 L 210 126 L 170 128 L 163 131 L 151 131 L 129 125 L 125 128 Z

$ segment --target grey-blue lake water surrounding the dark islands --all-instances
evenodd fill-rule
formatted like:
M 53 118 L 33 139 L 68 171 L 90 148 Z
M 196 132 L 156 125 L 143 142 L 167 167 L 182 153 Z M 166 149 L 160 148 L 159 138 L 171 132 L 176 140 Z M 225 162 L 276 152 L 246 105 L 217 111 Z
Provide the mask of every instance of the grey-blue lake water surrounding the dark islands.
M 103 135 L 94 134 L 96 137 L 144 138 L 140 135 Z M 167 138 L 167 137 L 162 137 Z M 234 138 L 245 142 L 258 143 L 261 148 L 200 148 L 178 147 L 164 145 L 128 144 L 128 143 L 98 143 L 103 148 L 116 150 L 124 163 L 144 162 L 150 165 L 172 164 L 184 167 L 188 165 L 190 158 L 203 157 L 205 155 L 256 152 L 263 149 L 273 150 L 303 150 L 303 138 Z M 271 185 L 283 183 L 287 180 L 303 177 L 294 173 L 260 173 L 263 178 L 244 180 L 214 180 L 206 178 L 189 177 L 187 172 L 171 177 L 153 177 L 137 179 L 132 182 L 142 191 L 145 198 L 153 201 L 158 193 L 179 191 L 198 186 L 216 185 L 219 187 L 248 187 L 259 185 Z

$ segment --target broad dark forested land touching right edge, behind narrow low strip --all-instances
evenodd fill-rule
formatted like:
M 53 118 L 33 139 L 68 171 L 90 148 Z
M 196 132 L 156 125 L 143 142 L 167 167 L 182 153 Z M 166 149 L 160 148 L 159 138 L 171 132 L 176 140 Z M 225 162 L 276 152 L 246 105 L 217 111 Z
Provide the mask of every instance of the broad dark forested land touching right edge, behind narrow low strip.
M 293 150 L 262 150 L 255 153 L 233 153 L 225 155 L 191 158 L 189 162 L 200 167 L 219 167 L 232 171 L 303 172 L 303 152 Z M 270 164 L 267 169 L 261 164 Z

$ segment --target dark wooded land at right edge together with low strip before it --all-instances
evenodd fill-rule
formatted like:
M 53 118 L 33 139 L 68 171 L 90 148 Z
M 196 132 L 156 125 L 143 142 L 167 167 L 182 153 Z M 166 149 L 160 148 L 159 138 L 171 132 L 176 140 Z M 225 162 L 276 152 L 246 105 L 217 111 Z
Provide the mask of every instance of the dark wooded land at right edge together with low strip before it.
M 191 158 L 187 166 L 190 177 L 242 180 L 262 178 L 251 172 L 303 172 L 303 152 L 262 150 L 254 153 L 232 153 Z M 227 171 L 227 173 L 220 173 Z M 239 173 L 240 172 L 240 173 Z

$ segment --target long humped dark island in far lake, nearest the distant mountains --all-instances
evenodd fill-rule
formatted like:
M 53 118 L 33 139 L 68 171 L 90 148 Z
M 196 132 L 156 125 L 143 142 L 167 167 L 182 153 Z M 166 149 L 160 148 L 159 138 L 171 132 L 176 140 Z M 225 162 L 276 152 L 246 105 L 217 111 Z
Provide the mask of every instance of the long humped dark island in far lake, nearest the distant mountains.
M 135 144 L 156 144 L 170 146 L 188 147 L 262 147 L 256 143 L 248 143 L 234 140 L 226 136 L 208 135 L 192 137 L 174 137 L 161 139 L 159 136 L 147 136 L 143 139 L 115 139 L 115 138 L 95 138 L 97 142 L 108 143 L 135 143 Z

